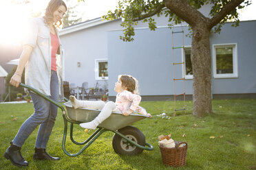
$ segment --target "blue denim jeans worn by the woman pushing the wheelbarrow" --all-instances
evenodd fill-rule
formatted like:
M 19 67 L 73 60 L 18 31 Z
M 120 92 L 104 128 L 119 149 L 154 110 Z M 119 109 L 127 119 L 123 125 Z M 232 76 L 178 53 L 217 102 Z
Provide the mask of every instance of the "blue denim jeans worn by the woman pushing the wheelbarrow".
M 52 71 L 50 91 L 50 98 L 58 102 L 58 76 L 56 71 Z M 54 126 L 58 107 L 35 93 L 30 92 L 30 96 L 34 104 L 34 114 L 21 125 L 12 143 L 21 147 L 28 136 L 40 125 L 35 147 L 45 149 Z

